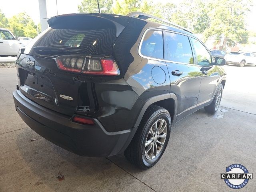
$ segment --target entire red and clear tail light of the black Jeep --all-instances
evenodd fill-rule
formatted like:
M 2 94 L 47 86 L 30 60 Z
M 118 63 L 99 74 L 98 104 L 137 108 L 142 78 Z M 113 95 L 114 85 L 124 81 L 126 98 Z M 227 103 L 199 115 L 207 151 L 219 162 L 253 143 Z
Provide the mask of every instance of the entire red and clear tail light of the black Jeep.
M 116 76 L 120 70 L 111 58 L 92 58 L 84 56 L 59 56 L 56 63 L 60 70 L 91 75 Z

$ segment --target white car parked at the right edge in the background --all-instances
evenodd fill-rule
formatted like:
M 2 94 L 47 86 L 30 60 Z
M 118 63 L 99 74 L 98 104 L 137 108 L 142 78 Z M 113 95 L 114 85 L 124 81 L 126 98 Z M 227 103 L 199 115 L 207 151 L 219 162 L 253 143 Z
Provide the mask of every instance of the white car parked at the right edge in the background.
M 224 59 L 226 60 L 226 65 L 235 64 L 240 67 L 245 65 L 256 66 L 256 55 L 251 52 L 230 52 L 225 55 Z

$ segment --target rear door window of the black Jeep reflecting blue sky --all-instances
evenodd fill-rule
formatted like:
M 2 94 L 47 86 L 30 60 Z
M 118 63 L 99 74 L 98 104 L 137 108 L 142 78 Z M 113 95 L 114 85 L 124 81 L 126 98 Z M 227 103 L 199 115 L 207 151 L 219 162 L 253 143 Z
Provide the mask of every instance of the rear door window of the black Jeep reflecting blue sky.
M 173 62 L 194 64 L 188 36 L 166 32 L 167 58 Z

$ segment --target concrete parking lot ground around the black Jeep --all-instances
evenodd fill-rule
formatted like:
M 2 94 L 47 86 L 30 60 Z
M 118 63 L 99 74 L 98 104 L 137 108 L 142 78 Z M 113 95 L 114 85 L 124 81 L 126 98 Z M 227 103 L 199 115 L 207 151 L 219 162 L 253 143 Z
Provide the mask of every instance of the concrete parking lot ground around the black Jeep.
M 15 111 L 16 68 L 0 68 L 0 192 L 233 191 L 220 180 L 226 166 L 239 163 L 256 172 L 256 67 L 224 69 L 218 113 L 201 109 L 178 122 L 158 164 L 142 171 L 123 154 L 81 157 L 36 134 Z M 255 188 L 252 179 L 240 191 Z

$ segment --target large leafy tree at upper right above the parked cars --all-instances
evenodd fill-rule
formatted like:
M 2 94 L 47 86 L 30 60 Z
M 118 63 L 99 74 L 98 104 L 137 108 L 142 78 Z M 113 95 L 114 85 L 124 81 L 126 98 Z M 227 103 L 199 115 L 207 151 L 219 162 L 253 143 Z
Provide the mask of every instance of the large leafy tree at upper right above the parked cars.
M 250 0 L 215 0 L 209 3 L 210 26 L 204 30 L 205 38 L 222 36 L 224 46 L 235 46 L 236 43 L 248 42 L 245 18 L 250 13 Z

